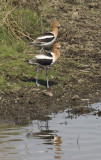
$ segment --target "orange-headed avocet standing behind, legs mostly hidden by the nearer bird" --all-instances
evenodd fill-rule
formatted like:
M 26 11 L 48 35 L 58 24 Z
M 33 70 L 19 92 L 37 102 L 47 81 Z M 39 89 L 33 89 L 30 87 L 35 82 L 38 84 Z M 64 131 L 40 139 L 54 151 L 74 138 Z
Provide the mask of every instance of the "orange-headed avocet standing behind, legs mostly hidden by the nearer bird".
M 44 48 L 51 46 L 57 38 L 58 35 L 58 28 L 60 24 L 58 21 L 54 21 L 52 24 L 52 32 L 44 33 L 43 35 L 39 36 L 36 40 L 34 40 L 31 45 L 32 46 L 39 46 L 42 47 L 40 53 Z

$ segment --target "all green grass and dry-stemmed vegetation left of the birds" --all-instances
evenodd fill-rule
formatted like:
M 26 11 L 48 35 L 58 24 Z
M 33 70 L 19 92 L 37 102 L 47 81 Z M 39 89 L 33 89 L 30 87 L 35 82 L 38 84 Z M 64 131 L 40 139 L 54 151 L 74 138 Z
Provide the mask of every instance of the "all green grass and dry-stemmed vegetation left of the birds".
M 28 2 L 0 1 L 0 91 L 35 85 L 30 79 L 34 79 L 36 67 L 25 61 L 36 54 L 30 42 L 42 32 L 44 19 L 38 7 L 43 1 Z

